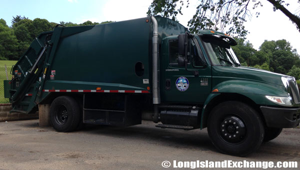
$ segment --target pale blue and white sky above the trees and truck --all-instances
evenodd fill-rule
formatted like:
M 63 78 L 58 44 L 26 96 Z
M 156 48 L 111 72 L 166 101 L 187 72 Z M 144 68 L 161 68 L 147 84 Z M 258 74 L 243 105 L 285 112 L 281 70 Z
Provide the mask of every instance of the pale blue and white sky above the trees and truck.
M 0 18 L 11 25 L 12 16 L 21 15 L 29 19 L 44 18 L 49 22 L 59 21 L 82 23 L 86 20 L 101 22 L 106 20 L 120 21 L 145 17 L 152 0 L 0 0 Z M 178 21 L 187 26 L 187 21 L 195 13 L 199 0 L 189 0 L 188 8 L 183 8 L 183 15 L 178 14 Z M 251 17 L 245 23 L 249 31 L 249 40 L 258 49 L 264 40 L 286 39 L 300 54 L 300 32 L 296 26 L 280 11 L 273 11 L 266 0 L 256 11 L 258 17 Z M 297 0 L 285 0 L 292 13 L 300 13 Z

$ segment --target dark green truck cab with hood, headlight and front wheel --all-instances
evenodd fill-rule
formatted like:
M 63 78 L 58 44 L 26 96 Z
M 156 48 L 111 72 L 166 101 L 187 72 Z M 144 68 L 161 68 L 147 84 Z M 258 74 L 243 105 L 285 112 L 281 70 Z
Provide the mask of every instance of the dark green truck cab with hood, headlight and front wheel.
M 178 125 L 207 127 L 219 150 L 237 155 L 299 124 L 295 79 L 241 66 L 230 47 L 236 41 L 229 35 L 202 30 L 167 36 L 161 44 L 161 100 L 190 106 L 185 117 L 178 108 L 162 108 L 162 123 L 170 123 L 172 117 Z M 201 109 L 194 114 L 196 108 Z

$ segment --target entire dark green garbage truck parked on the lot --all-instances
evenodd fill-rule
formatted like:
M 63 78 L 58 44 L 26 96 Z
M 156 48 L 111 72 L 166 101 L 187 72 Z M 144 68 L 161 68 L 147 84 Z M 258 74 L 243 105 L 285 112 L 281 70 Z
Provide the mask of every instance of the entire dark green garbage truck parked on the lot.
M 11 112 L 49 105 L 68 132 L 82 123 L 203 129 L 223 153 L 245 156 L 300 121 L 294 77 L 241 66 L 234 38 L 196 34 L 148 16 L 40 33 L 4 80 Z

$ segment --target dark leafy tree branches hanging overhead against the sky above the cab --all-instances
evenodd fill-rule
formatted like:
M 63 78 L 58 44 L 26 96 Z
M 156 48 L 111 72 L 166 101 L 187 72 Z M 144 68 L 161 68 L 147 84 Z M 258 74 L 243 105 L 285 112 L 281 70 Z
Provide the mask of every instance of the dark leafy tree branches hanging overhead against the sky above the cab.
M 226 33 L 245 37 L 248 31 L 243 24 L 246 22 L 246 19 L 252 15 L 250 9 L 262 6 L 261 1 L 262 0 L 199 0 L 196 13 L 188 21 L 189 30 L 192 33 L 197 32 L 199 29 L 215 29 L 224 32 L 225 28 L 227 28 Z M 286 6 L 289 5 L 288 3 L 285 3 L 283 0 L 267 1 L 273 5 L 274 11 L 280 10 L 283 12 L 300 31 L 300 17 L 286 9 Z M 299 0 L 298 2 L 300 3 Z M 153 0 L 148 8 L 147 14 L 160 14 L 161 16 L 176 20 L 177 14 L 182 14 L 181 9 L 184 5 L 183 0 Z M 187 0 L 186 7 L 188 7 L 188 5 L 189 1 Z M 255 15 L 258 16 L 259 12 L 256 12 Z

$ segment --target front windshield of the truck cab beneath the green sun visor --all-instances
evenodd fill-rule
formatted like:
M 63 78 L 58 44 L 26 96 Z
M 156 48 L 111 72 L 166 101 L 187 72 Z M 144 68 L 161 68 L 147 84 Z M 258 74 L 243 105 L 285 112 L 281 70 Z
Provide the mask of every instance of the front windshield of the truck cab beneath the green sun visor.
M 216 36 L 201 36 L 213 65 L 239 66 L 240 63 L 230 45 Z

